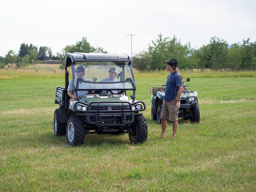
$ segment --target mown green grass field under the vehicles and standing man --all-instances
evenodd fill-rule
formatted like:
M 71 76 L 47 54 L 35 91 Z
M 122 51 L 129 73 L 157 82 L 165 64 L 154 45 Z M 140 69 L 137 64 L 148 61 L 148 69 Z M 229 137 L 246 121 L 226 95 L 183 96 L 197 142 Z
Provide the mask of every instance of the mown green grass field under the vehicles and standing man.
M 147 142 L 90 134 L 73 147 L 53 130 L 62 72 L 0 70 L 0 191 L 256 190 L 253 72 L 226 74 L 230 78 L 181 72 L 198 91 L 201 121 L 179 119 L 174 139 L 170 122 L 163 139 L 161 125 L 150 120 L 150 86 L 164 84 L 166 72 L 136 73 L 136 99 L 147 107 Z

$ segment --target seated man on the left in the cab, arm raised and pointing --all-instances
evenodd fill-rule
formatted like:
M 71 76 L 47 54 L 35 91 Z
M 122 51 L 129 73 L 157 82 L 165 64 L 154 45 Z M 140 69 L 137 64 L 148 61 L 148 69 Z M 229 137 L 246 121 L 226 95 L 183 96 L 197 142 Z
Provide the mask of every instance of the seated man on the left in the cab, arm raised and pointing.
M 76 95 L 74 88 L 77 86 L 78 78 L 82 78 L 82 80 L 85 82 L 90 82 L 90 80 L 87 78 L 83 78 L 83 76 L 85 75 L 85 68 L 83 68 L 83 66 L 78 66 L 75 69 L 75 74 L 77 78 L 74 79 L 74 83 L 73 83 L 73 79 L 71 79 L 70 84 L 67 87 L 67 94 L 70 96 L 70 102 L 75 101 L 82 95 L 89 93 L 88 90 L 78 90 L 78 96 Z M 93 81 L 96 82 L 96 80 L 97 79 L 93 77 Z M 88 88 L 91 89 L 91 87 L 88 87 Z

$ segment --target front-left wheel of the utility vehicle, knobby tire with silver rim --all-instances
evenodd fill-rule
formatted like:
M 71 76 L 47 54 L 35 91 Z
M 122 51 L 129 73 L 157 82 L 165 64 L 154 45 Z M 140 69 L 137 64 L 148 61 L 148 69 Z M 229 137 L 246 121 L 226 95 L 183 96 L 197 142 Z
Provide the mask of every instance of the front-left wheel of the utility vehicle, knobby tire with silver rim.
M 66 140 L 71 146 L 80 146 L 85 141 L 85 126 L 82 118 L 71 116 L 66 124 Z

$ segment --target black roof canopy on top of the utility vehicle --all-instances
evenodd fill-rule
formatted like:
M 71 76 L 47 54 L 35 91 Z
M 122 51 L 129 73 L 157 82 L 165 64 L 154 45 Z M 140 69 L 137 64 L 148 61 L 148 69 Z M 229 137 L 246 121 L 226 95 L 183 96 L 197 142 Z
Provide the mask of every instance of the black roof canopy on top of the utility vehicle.
M 66 53 L 65 69 L 75 62 L 132 62 L 128 54 Z

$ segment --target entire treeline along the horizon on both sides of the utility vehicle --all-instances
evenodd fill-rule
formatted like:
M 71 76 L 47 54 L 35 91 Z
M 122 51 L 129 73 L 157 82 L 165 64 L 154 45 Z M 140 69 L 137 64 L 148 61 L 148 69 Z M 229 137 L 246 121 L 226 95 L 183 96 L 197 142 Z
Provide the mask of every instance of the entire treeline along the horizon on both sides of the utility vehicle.
M 6 65 L 13 69 L 26 67 L 49 59 L 64 60 L 67 52 L 98 52 L 107 53 L 102 47 L 94 47 L 87 42 L 87 38 L 76 42 L 74 45 L 65 46 L 56 56 L 52 54 L 50 47 L 37 46 L 22 43 L 18 54 L 10 50 L 6 57 L 0 56 L 0 68 Z M 174 38 L 163 38 L 158 35 L 152 41 L 148 50 L 142 51 L 133 57 L 134 68 L 140 71 L 166 70 L 165 60 L 175 58 L 178 60 L 180 70 L 200 69 L 210 70 L 256 70 L 256 42 L 250 42 L 250 38 L 242 40 L 242 43 L 229 45 L 223 39 L 210 38 L 210 43 L 195 50 L 190 43 L 182 45 L 181 41 Z M 64 63 L 63 63 L 64 64 Z M 64 68 L 64 65 L 60 68 Z

